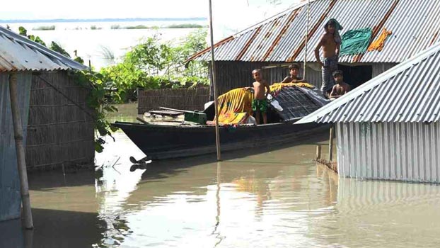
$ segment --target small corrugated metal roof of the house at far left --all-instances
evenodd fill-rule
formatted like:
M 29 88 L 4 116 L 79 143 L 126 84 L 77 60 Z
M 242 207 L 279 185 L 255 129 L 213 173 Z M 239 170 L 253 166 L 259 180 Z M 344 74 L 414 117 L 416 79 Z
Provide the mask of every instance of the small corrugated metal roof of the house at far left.
M 0 26 L 0 72 L 66 69 L 88 67 Z

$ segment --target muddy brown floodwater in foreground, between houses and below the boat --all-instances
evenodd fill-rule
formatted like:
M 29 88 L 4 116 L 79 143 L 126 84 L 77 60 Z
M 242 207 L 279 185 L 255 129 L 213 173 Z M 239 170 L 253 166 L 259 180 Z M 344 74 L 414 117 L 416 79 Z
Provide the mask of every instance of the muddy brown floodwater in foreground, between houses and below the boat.
M 0 222 L 0 247 L 439 246 L 440 187 L 338 179 L 311 162 L 327 133 L 146 167 L 114 136 L 96 172 L 30 174 L 35 230 Z

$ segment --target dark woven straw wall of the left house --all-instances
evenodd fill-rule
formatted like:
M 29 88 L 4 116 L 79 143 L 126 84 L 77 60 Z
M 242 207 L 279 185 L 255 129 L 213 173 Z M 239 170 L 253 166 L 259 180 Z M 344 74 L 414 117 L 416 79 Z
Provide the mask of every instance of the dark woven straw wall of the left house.
M 93 166 L 93 115 L 86 107 L 87 94 L 88 90 L 75 84 L 67 72 L 33 76 L 26 144 L 28 170 Z

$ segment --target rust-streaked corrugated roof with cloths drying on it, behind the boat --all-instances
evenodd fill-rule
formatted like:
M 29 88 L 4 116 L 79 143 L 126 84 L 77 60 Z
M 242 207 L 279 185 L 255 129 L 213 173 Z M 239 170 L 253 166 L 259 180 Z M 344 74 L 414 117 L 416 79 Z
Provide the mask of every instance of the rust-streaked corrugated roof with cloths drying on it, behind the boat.
M 315 62 L 314 48 L 324 23 L 336 18 L 344 29 L 372 28 L 375 40 L 382 28 L 391 30 L 381 52 L 343 56 L 340 62 L 403 62 L 440 41 L 440 1 L 432 0 L 315 0 L 310 4 L 307 60 Z M 216 43 L 215 60 L 243 62 L 303 61 L 307 5 L 302 3 L 258 23 L 226 42 Z M 209 48 L 189 60 L 211 60 Z

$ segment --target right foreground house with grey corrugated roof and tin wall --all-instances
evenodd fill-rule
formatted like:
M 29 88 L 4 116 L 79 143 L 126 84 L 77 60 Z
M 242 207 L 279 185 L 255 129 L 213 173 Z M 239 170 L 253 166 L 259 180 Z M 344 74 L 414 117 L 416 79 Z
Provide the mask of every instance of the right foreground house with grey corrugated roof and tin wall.
M 335 123 L 340 176 L 440 183 L 440 43 L 299 123 Z

